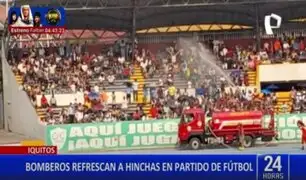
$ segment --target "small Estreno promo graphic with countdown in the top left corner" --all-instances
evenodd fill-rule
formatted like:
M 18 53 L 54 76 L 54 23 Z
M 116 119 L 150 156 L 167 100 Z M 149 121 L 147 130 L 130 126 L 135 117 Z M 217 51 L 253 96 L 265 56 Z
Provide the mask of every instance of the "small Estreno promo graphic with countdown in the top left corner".
M 66 13 L 62 7 L 11 7 L 8 19 L 9 31 L 13 35 L 65 32 Z

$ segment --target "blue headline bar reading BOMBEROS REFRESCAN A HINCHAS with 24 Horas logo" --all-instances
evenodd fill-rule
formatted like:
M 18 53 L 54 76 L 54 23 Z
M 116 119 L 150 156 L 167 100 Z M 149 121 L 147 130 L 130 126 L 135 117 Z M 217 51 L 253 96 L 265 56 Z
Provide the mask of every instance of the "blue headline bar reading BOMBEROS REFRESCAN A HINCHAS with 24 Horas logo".
M 8 155 L 0 156 L 0 178 L 305 180 L 305 162 L 306 155 Z

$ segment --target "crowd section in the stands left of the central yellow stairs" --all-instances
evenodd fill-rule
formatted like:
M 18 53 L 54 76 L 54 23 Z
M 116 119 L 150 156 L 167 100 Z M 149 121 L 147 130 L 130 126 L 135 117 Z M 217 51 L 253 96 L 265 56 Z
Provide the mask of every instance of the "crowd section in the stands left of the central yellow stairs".
M 76 115 L 77 121 L 101 117 L 97 114 L 101 111 L 95 109 L 97 106 L 92 106 L 92 100 L 90 103 L 77 106 L 71 102 L 69 108 L 62 109 L 60 116 L 54 116 L 53 110 L 58 108 L 54 94 L 60 93 L 96 93 L 98 96 L 101 94 L 102 103 L 97 105 L 103 106 L 103 110 L 107 109 L 103 111 L 103 119 L 111 119 L 113 116 L 108 118 L 110 111 L 121 111 L 125 107 L 107 106 L 103 102 L 108 98 L 105 87 L 113 85 L 117 79 L 128 79 L 133 70 L 132 64 L 126 61 L 125 51 L 119 49 L 119 52 L 114 52 L 113 48 L 108 48 L 99 54 L 89 54 L 86 44 L 12 49 L 9 52 L 9 64 L 13 72 L 22 77 L 23 83 L 20 88 L 28 93 L 33 105 L 36 106 L 37 101 L 40 101 L 41 107 L 47 108 L 47 117 L 44 119 L 46 122 L 54 122 L 55 119 L 58 122 L 71 122 L 69 114 L 72 112 Z M 45 94 L 53 95 L 50 101 Z M 42 98 L 36 99 L 37 95 L 42 95 Z M 115 99 L 113 96 L 110 97 L 112 100 Z M 116 118 L 118 117 L 121 116 L 116 115 Z

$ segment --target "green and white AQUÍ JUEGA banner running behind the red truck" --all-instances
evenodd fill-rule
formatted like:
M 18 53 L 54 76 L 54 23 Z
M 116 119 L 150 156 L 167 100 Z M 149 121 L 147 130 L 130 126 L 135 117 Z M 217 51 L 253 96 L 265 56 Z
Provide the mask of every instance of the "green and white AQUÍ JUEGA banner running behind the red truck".
M 296 123 L 298 120 L 306 123 L 306 114 L 277 115 L 275 118 L 280 142 L 300 141 L 301 132 Z M 266 126 L 269 120 L 265 118 Z M 45 142 L 57 146 L 60 152 L 173 147 L 177 143 L 178 123 L 179 119 L 165 119 L 48 125 Z

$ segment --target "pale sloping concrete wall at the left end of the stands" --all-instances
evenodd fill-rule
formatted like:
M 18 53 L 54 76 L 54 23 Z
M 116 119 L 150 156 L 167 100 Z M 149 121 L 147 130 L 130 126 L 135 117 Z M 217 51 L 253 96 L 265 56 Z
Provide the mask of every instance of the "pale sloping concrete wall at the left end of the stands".
M 45 127 L 39 123 L 36 111 L 25 91 L 20 90 L 16 78 L 1 49 L 4 93 L 4 128 L 29 138 L 43 139 Z

